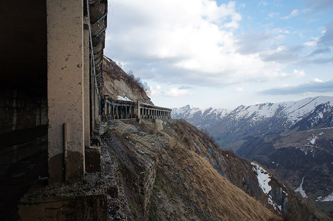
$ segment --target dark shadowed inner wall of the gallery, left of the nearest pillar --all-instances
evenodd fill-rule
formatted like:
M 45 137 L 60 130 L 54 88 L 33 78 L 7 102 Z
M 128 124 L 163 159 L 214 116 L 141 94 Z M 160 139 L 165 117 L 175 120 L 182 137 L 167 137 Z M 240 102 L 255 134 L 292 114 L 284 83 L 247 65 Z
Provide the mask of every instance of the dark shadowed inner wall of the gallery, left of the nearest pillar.
M 0 87 L 0 220 L 39 176 L 47 176 L 46 95 Z

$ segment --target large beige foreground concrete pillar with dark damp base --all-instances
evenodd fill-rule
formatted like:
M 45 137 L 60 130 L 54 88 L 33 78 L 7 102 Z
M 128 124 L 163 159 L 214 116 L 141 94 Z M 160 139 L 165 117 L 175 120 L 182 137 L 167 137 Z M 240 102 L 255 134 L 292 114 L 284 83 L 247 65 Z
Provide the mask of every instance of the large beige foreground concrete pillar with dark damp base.
M 84 174 L 83 0 L 46 0 L 46 8 L 48 167 L 54 183 Z

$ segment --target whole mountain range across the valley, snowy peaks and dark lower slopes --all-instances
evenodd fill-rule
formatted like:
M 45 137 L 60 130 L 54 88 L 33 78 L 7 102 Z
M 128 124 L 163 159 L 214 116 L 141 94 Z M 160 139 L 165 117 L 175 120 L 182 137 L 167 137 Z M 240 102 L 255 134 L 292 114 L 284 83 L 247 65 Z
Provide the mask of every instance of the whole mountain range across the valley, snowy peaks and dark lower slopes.
M 220 147 L 266 166 L 303 197 L 315 201 L 332 193 L 333 97 L 241 105 L 232 111 L 187 105 L 172 109 L 171 116 L 207 129 Z M 322 201 L 315 204 L 329 213 Z

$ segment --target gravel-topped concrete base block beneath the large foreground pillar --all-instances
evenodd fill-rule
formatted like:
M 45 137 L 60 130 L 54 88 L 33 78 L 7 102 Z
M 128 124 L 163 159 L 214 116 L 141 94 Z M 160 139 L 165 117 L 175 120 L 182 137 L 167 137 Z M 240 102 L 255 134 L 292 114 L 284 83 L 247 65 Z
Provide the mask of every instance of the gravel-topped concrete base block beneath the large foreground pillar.
M 106 183 L 99 173 L 82 180 L 31 188 L 20 200 L 21 220 L 99 221 L 107 219 Z

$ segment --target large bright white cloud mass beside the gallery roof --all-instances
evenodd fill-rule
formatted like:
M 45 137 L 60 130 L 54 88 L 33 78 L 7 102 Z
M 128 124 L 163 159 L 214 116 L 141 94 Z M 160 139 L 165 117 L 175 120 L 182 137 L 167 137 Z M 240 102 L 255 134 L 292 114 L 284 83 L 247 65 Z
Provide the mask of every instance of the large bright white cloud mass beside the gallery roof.
M 279 78 L 284 66 L 275 57 L 239 52 L 234 32 L 241 19 L 235 1 L 109 1 L 104 53 L 158 83 L 221 86 Z

